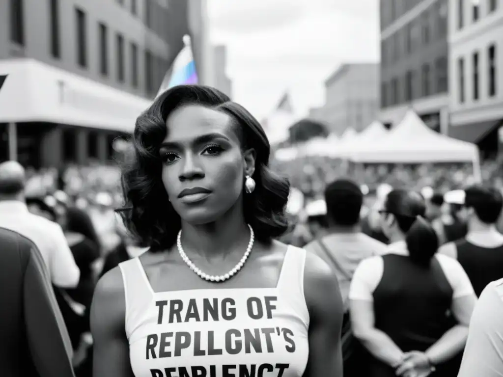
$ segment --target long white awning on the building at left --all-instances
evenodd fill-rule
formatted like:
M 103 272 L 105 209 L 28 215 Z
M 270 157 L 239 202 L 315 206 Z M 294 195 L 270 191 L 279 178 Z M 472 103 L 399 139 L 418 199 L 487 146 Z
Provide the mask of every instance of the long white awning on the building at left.
M 0 61 L 0 123 L 49 122 L 132 133 L 151 101 L 34 59 Z

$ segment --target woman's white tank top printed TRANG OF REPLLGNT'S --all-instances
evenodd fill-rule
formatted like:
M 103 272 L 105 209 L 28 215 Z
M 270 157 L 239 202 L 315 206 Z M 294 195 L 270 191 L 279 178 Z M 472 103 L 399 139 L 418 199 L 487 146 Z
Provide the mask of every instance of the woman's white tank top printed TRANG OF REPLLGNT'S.
M 135 377 L 300 377 L 309 353 L 306 252 L 289 246 L 276 288 L 155 293 L 138 258 L 119 264 Z

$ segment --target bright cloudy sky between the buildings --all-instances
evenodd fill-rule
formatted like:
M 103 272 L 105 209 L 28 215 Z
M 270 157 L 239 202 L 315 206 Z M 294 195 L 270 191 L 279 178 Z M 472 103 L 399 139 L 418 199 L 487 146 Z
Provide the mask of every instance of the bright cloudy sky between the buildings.
M 289 90 L 298 115 L 323 103 L 341 63 L 379 60 L 378 0 L 209 0 L 234 99 L 262 119 Z

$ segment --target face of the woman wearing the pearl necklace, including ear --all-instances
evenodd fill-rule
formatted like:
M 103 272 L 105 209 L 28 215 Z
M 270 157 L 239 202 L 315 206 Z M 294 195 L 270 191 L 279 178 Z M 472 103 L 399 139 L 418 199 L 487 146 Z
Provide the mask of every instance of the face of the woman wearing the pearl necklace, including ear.
M 254 151 L 241 151 L 228 115 L 202 106 L 175 110 L 166 126 L 159 153 L 173 208 L 191 224 L 217 220 L 240 203 L 245 174 L 254 172 Z

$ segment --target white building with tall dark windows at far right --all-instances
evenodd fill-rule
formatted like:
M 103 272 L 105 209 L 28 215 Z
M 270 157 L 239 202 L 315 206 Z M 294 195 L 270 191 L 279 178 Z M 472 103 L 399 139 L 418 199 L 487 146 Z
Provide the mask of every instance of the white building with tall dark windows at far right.
M 498 148 L 503 123 L 503 1 L 450 0 L 449 135 Z

